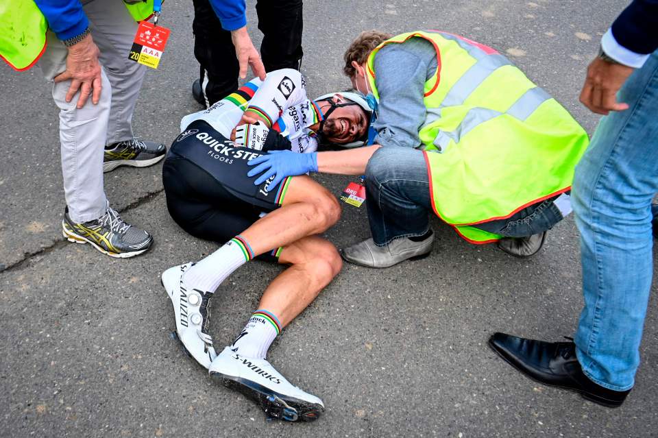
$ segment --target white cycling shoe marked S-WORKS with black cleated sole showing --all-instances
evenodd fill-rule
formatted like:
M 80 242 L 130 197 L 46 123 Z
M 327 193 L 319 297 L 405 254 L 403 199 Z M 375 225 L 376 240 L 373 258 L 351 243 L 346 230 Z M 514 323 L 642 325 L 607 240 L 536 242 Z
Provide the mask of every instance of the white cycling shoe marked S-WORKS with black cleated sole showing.
M 322 400 L 291 385 L 265 359 L 247 358 L 226 347 L 209 371 L 222 385 L 254 400 L 268 417 L 312 422 L 324 412 Z

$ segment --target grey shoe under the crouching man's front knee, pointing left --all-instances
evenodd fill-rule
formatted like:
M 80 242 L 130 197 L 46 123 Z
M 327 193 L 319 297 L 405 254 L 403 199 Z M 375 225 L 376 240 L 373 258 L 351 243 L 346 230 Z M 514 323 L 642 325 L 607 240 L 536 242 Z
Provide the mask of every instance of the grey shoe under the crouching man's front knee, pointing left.
M 365 267 L 384 268 L 397 265 L 404 260 L 419 260 L 430 255 L 434 232 L 424 241 L 414 242 L 409 238 L 395 239 L 388 245 L 377 246 L 372 239 L 341 250 L 345 261 Z

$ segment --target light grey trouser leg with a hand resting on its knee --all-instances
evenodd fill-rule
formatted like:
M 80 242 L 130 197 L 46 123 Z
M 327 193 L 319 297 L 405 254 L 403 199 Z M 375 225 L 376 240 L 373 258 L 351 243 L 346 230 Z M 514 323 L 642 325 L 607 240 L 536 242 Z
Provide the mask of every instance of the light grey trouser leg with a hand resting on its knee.
M 47 80 L 66 70 L 68 51 L 52 31 L 46 33 L 47 49 L 38 64 Z M 98 104 L 87 99 L 79 110 L 75 108 L 78 91 L 70 102 L 66 92 L 71 81 L 53 83 L 53 100 L 60 109 L 60 150 L 64 198 L 69 216 L 75 222 L 86 222 L 101 217 L 107 199 L 103 191 L 103 145 L 107 138 L 112 86 L 101 71 L 103 87 Z

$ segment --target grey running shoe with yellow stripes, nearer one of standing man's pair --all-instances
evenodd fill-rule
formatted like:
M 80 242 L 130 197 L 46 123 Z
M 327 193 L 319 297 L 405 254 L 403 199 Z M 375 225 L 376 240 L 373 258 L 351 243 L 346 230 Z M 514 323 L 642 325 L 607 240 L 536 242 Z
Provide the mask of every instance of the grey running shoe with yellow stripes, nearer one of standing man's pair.
M 62 234 L 75 243 L 90 243 L 110 257 L 127 258 L 146 252 L 153 243 L 151 234 L 125 223 L 119 213 L 108 205 L 105 215 L 93 221 L 77 223 L 64 210 Z

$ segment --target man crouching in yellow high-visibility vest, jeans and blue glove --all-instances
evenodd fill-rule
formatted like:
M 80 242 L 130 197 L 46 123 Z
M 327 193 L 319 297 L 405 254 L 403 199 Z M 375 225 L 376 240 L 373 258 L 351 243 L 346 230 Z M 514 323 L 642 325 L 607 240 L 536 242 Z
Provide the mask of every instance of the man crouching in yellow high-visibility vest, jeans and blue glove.
M 587 134 L 496 50 L 447 32 L 363 32 L 344 71 L 376 107 L 374 145 L 321 152 L 307 170 L 365 172 L 373 237 L 345 248 L 345 260 L 388 267 L 427 256 L 430 211 L 471 243 L 531 256 L 571 211 Z M 254 161 L 278 173 L 294 167 L 283 159 Z

